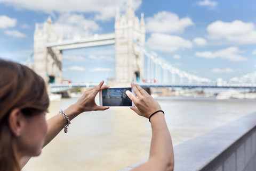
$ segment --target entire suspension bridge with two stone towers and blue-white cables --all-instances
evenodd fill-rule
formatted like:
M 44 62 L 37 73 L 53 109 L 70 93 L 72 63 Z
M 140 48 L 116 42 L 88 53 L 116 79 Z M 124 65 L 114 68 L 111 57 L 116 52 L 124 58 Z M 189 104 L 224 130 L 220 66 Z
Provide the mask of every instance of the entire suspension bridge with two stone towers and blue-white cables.
M 36 24 L 34 33 L 34 67 L 52 92 L 66 91 L 74 87 L 90 87 L 95 83 L 61 84 L 62 50 L 94 46 L 115 45 L 116 83 L 138 82 L 142 87 L 208 87 L 208 88 L 256 88 L 256 72 L 236 76 L 228 80 L 211 80 L 190 74 L 172 66 L 145 45 L 145 21 L 135 16 L 132 6 L 126 14 L 115 17 L 115 32 L 103 35 L 63 39 L 55 33 L 49 18 L 43 27 Z M 146 58 L 145 58 L 146 56 Z M 31 55 L 28 62 L 31 62 Z

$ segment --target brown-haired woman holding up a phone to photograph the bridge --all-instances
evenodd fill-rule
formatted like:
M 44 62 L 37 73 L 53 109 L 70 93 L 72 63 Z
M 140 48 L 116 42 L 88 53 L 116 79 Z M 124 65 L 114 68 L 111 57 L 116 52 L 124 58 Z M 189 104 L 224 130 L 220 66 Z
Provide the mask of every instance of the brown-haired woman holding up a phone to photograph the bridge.
M 66 110 L 50 118 L 45 113 L 49 97 L 44 80 L 27 66 L 0 59 L 0 170 L 21 170 L 32 156 L 38 156 L 64 127 L 67 131 L 70 121 L 83 112 L 106 110 L 109 107 L 95 104 L 97 93 L 109 86 L 103 81 L 86 91 L 78 101 Z M 127 96 L 137 107 L 131 107 L 137 114 L 149 118 L 161 110 L 158 103 L 140 86 L 131 84 L 135 94 Z M 150 118 L 153 136 L 150 157 L 147 163 L 134 168 L 138 170 L 172 170 L 173 151 L 171 136 L 164 115 L 156 112 Z

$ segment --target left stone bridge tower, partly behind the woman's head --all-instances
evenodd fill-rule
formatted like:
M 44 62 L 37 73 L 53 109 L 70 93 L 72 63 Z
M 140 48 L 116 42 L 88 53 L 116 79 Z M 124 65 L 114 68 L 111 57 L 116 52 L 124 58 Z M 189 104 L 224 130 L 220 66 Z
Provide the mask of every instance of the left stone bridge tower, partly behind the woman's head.
M 55 47 L 46 47 L 47 41 L 58 41 L 58 39 L 59 37 L 52 27 L 51 18 L 48 18 L 41 28 L 36 23 L 34 33 L 34 71 L 42 76 L 46 83 L 61 83 L 62 80 L 62 52 Z

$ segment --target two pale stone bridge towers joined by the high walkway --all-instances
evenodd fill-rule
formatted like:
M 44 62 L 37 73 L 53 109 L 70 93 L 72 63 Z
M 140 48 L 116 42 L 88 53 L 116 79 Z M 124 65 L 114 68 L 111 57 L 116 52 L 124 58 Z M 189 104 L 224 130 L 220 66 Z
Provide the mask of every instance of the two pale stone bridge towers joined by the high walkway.
M 63 39 L 55 33 L 49 18 L 39 28 L 36 24 L 34 33 L 34 70 L 42 76 L 46 83 L 61 83 L 63 80 L 61 63 L 62 50 L 93 46 L 115 45 L 116 47 L 116 79 L 115 82 L 127 83 L 142 80 L 144 74 L 144 54 L 134 44 L 133 39 L 145 43 L 145 21 L 135 16 L 132 5 L 126 14 L 115 18 L 115 32 L 103 35 Z

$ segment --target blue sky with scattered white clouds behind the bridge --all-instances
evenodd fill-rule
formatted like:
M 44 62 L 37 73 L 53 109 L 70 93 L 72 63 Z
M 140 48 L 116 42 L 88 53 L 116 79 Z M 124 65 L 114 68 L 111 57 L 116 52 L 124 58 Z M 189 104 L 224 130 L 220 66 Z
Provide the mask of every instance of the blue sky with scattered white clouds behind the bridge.
M 0 0 L 0 57 L 23 62 L 33 53 L 36 23 L 49 16 L 64 36 L 114 32 L 117 7 L 124 0 Z M 256 69 L 256 1 L 133 0 L 145 14 L 146 44 L 186 72 L 212 80 Z M 115 46 L 63 51 L 65 79 L 99 82 L 115 77 Z M 147 75 L 147 74 L 145 74 Z

